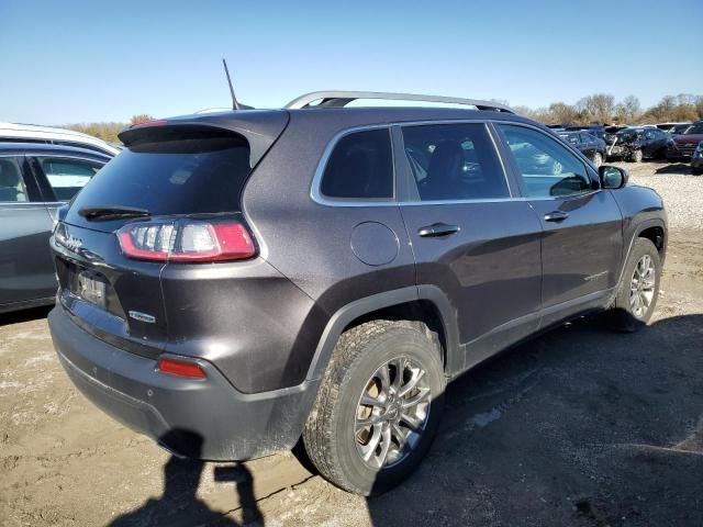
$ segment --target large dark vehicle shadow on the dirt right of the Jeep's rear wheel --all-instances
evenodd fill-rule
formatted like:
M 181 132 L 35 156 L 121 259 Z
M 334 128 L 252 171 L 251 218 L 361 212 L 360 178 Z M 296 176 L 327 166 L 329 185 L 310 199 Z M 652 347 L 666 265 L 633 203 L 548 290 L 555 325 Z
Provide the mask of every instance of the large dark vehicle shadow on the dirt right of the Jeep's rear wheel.
M 703 315 L 577 321 L 454 382 L 372 525 L 703 525 Z

